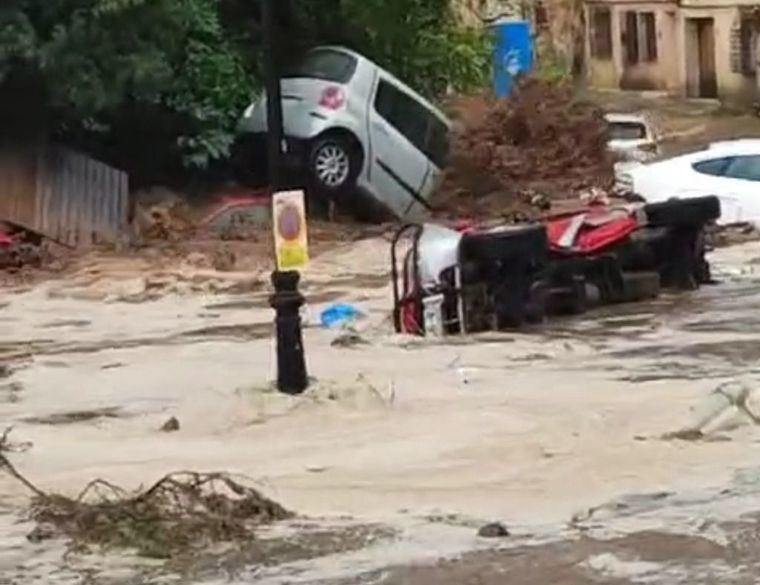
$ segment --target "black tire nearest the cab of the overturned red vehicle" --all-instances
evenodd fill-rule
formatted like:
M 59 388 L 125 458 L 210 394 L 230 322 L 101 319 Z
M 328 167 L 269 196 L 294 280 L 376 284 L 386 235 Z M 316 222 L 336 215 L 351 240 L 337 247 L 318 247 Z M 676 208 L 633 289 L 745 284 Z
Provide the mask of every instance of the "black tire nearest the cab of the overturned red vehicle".
M 549 239 L 543 225 L 510 226 L 504 229 L 467 234 L 460 247 L 462 257 L 473 261 L 505 261 L 530 258 L 545 264 Z

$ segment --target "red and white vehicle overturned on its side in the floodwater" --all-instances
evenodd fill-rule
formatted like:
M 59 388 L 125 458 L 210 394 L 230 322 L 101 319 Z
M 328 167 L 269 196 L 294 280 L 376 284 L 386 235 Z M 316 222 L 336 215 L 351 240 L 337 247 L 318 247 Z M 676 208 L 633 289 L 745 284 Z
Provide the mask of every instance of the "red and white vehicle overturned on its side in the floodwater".
M 391 251 L 399 333 L 519 328 L 547 315 L 654 298 L 711 281 L 716 197 L 590 207 L 542 224 L 411 224 Z

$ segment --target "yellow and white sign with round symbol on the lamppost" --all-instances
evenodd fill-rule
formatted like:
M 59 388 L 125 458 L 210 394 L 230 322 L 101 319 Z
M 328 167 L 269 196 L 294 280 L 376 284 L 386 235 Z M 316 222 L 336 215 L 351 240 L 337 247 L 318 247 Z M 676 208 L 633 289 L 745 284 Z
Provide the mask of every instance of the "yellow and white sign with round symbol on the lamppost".
M 284 191 L 272 197 L 274 250 L 277 270 L 299 270 L 309 262 L 306 203 L 303 191 Z

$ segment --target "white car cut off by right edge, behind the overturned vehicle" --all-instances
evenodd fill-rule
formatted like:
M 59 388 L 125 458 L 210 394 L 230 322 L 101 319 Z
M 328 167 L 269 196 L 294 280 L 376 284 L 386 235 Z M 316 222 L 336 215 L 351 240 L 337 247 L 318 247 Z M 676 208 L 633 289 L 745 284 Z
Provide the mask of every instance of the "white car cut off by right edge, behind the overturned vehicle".
M 628 167 L 617 186 L 647 202 L 715 195 L 719 223 L 760 221 L 760 139 L 716 142 L 667 160 Z

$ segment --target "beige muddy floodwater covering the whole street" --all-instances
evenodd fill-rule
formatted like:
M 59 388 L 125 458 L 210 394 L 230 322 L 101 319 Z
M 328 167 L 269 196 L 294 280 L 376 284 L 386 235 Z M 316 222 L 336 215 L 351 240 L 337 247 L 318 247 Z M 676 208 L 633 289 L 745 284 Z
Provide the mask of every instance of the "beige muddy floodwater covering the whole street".
M 760 428 L 677 433 L 719 385 L 760 388 L 760 245 L 714 252 L 720 283 L 693 293 L 441 341 L 392 333 L 387 255 L 352 243 L 304 275 L 302 397 L 271 389 L 266 287 L 0 293 L 0 423 L 42 489 L 225 471 L 297 513 L 224 562 L 65 554 L 27 539 L 29 493 L 0 473 L 0 583 L 760 581 Z M 317 326 L 336 300 L 364 343 Z M 479 537 L 489 522 L 509 536 Z

